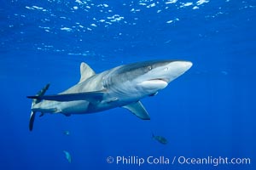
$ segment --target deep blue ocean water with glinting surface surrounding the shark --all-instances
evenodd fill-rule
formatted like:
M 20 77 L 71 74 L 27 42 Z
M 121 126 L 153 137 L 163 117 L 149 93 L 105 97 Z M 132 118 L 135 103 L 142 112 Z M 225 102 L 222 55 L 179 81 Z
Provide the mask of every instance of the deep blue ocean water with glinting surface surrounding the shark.
M 253 0 L 2 1 L 0 169 L 255 169 L 255 18 Z M 80 62 L 99 73 L 151 59 L 194 65 L 142 100 L 150 121 L 117 108 L 37 115 L 28 130 L 26 96 L 73 86 Z

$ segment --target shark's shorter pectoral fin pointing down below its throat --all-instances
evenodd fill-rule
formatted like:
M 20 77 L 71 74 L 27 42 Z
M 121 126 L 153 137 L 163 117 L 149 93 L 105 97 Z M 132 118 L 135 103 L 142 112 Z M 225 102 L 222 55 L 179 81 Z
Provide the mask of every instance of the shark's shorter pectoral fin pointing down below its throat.
M 140 101 L 137 101 L 136 103 L 132 103 L 130 105 L 124 105 L 125 109 L 128 109 L 131 111 L 134 115 L 138 116 L 139 118 L 143 120 L 149 120 L 150 116 L 148 115 L 148 112 L 144 108 L 143 104 Z

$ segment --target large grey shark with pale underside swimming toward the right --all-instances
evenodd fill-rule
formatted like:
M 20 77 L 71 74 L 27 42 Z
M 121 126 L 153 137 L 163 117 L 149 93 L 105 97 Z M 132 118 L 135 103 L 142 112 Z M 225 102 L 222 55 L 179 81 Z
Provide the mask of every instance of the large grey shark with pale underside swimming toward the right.
M 35 113 L 72 114 L 95 113 L 123 107 L 143 120 L 149 120 L 141 99 L 154 96 L 169 82 L 183 75 L 192 66 L 184 60 L 154 60 L 120 65 L 96 74 L 84 62 L 80 65 L 80 80 L 71 88 L 55 95 L 44 95 L 47 84 L 32 99 L 29 129 L 32 131 Z

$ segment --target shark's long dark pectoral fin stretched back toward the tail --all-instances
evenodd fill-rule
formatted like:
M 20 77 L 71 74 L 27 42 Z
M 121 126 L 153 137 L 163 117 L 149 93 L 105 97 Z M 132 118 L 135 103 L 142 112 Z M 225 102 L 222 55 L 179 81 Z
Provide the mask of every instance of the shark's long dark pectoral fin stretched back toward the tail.
M 101 101 L 106 90 L 95 92 L 84 92 L 74 94 L 56 94 L 56 95 L 44 95 L 44 96 L 27 96 L 30 99 L 46 99 L 54 101 L 75 101 L 75 100 L 87 100 L 92 103 Z

